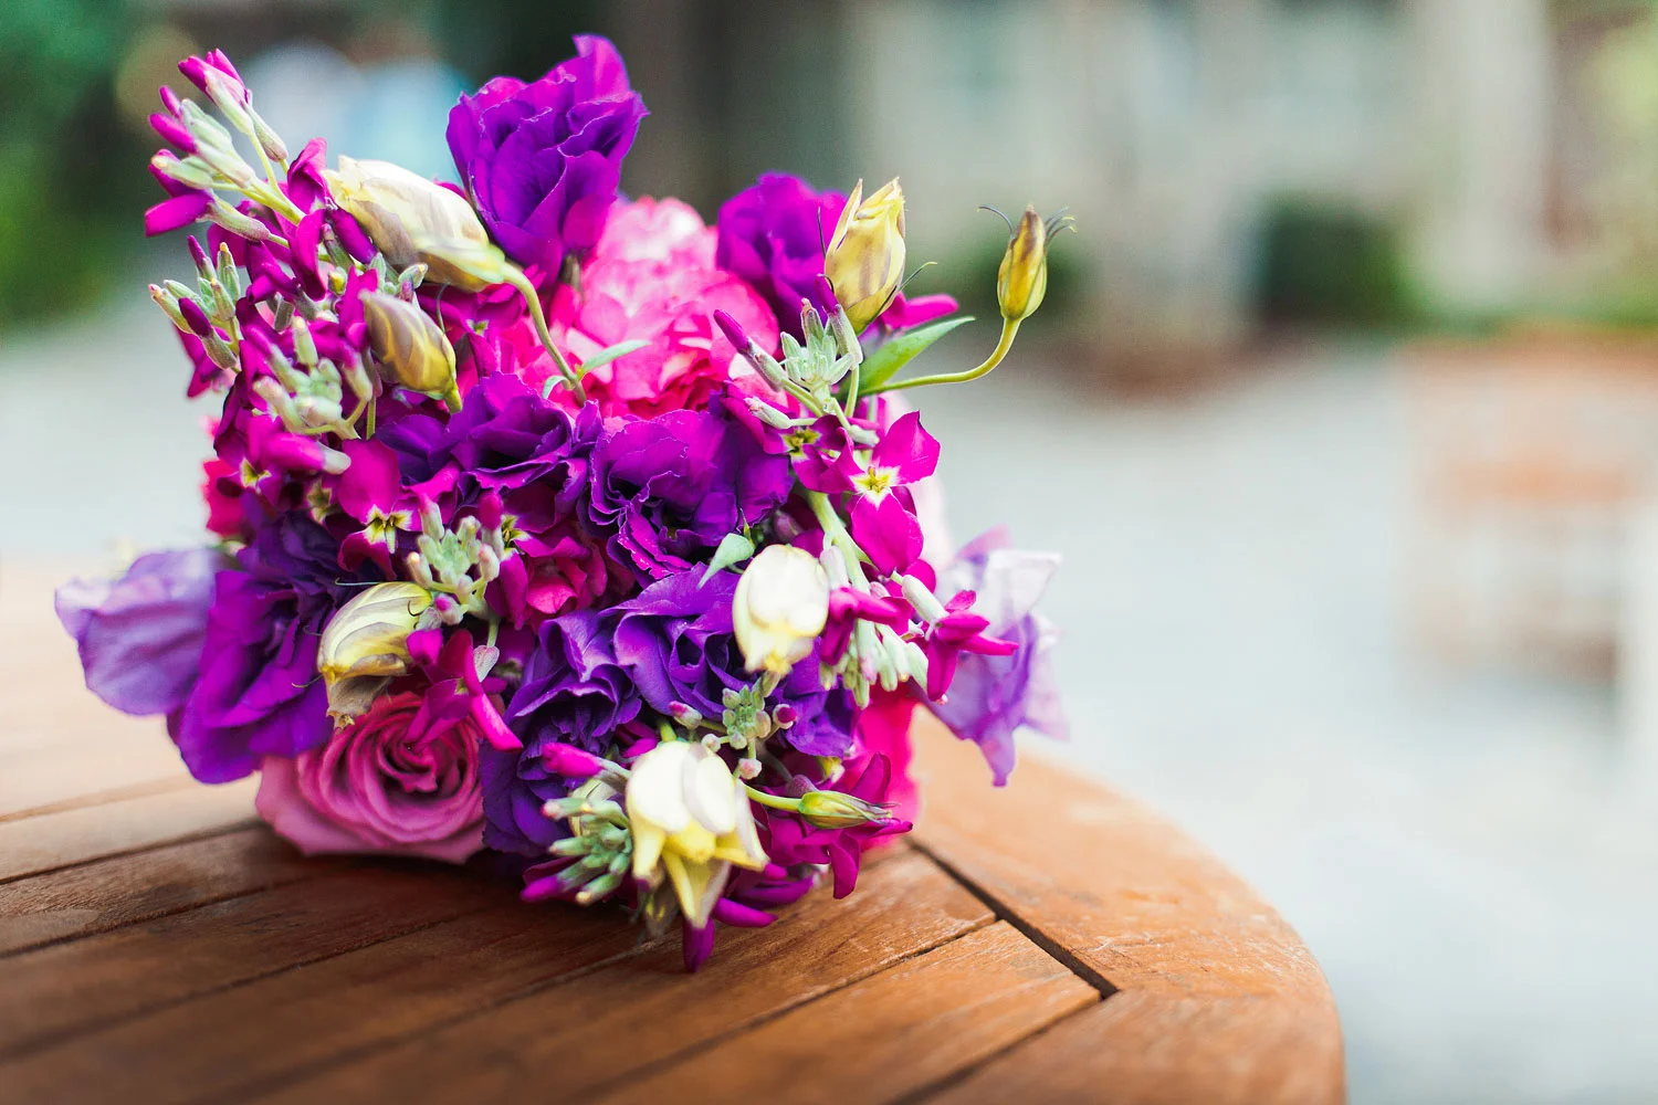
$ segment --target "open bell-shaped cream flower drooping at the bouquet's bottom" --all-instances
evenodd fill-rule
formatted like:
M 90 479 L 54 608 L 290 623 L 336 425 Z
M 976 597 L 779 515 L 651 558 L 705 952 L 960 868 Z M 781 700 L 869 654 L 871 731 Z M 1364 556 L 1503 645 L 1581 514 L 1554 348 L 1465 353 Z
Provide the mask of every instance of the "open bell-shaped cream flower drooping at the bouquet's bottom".
M 743 784 L 701 744 L 667 741 L 638 757 L 627 815 L 633 878 L 671 881 L 691 928 L 708 924 L 733 865 L 759 871 L 768 863 Z

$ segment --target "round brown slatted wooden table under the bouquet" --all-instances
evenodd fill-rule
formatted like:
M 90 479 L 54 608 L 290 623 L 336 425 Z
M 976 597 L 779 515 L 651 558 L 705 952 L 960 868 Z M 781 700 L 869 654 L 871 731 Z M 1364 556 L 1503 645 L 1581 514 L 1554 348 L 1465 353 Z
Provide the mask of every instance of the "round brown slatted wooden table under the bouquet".
M 35 577 L 36 580 L 40 577 Z M 1295 933 L 1154 815 L 927 727 L 927 813 L 683 972 L 478 871 L 303 860 L 0 577 L 0 1100 L 1338 1102 Z

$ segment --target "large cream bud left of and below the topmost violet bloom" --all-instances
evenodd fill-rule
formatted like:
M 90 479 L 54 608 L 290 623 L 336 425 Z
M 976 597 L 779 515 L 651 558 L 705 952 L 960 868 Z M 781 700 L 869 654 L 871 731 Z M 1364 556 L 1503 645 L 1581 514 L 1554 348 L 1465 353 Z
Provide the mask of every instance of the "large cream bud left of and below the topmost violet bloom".
M 390 161 L 342 156 L 327 177 L 328 194 L 395 267 L 424 263 L 428 280 L 464 292 L 499 283 L 482 260 L 499 250 L 464 195 Z

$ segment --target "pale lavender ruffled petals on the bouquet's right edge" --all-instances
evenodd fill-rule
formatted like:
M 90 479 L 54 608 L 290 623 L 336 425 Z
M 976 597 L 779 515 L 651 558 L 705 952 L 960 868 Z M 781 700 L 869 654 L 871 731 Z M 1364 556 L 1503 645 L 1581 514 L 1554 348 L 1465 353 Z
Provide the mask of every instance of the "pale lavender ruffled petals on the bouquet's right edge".
M 985 633 L 1015 644 L 1006 656 L 963 651 L 950 692 L 932 704 L 957 737 L 980 747 L 998 787 L 1013 772 L 1016 729 L 1068 736 L 1048 656 L 1056 633 L 1035 613 L 1058 567 L 1059 557 L 1011 550 L 1006 535 L 991 530 L 963 548 L 940 580 L 940 593 L 952 583 L 977 591 L 973 610 L 987 618 Z

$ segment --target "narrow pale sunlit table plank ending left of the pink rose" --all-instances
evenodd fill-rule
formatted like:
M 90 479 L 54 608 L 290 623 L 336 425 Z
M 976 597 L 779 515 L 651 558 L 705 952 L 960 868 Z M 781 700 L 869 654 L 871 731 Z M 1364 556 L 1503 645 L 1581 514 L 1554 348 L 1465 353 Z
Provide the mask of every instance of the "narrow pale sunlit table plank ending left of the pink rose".
M 257 789 L 257 779 L 192 784 L 0 822 L 0 881 L 250 823 Z

